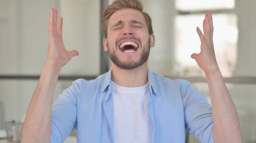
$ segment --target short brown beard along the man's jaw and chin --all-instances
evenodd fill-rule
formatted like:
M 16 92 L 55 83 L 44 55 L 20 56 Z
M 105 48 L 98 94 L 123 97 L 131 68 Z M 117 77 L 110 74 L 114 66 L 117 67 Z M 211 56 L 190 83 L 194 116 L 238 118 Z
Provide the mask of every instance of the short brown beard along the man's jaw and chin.
M 107 43 L 108 46 L 108 43 Z M 114 48 L 109 48 L 109 57 L 111 59 L 111 61 L 120 69 L 135 69 L 139 66 L 141 66 L 142 64 L 144 64 L 147 60 L 148 60 L 148 56 L 150 53 L 150 38 L 148 38 L 148 44 L 143 46 L 143 51 L 140 54 L 141 57 L 138 61 L 134 61 L 134 60 L 127 60 L 127 61 L 121 61 L 118 58 L 118 55 L 116 54 Z

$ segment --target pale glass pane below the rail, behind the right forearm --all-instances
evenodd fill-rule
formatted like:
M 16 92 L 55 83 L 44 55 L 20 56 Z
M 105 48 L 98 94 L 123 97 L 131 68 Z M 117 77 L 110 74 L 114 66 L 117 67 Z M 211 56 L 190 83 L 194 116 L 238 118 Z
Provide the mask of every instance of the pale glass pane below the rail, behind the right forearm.
M 210 92 L 207 83 L 192 83 L 211 104 Z M 226 84 L 228 91 L 236 105 L 241 125 L 243 142 L 256 141 L 256 84 Z M 199 143 L 194 136 L 189 136 L 189 143 Z

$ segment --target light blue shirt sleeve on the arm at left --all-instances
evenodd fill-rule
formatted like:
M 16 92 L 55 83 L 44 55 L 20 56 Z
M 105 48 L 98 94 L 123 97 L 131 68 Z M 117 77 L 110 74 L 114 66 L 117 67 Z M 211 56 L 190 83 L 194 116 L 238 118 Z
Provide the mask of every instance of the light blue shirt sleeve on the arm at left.
M 62 143 L 77 128 L 77 96 L 79 86 L 76 81 L 55 101 L 51 113 L 51 143 Z

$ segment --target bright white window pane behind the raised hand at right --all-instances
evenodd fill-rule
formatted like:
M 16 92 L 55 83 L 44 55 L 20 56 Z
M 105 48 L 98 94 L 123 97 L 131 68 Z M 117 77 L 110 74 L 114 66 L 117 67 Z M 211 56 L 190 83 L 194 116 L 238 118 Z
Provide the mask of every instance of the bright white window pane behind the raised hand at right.
M 200 52 L 200 38 L 196 27 L 203 32 L 202 15 L 177 15 L 175 18 L 175 69 L 178 76 L 204 76 L 190 56 Z M 213 42 L 221 73 L 230 77 L 237 60 L 237 17 L 235 14 L 220 13 L 213 16 Z M 188 24 L 189 23 L 189 24 Z

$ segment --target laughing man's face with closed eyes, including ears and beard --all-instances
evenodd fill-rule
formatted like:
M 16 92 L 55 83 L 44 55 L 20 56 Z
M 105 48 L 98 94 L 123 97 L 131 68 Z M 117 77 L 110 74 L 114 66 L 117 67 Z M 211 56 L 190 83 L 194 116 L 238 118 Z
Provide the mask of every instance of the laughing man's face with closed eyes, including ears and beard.
M 150 47 L 154 47 L 154 35 L 148 34 L 143 14 L 134 9 L 122 9 L 111 15 L 108 22 L 108 38 L 104 49 L 110 59 L 121 69 L 134 69 L 148 59 Z

